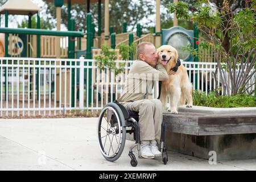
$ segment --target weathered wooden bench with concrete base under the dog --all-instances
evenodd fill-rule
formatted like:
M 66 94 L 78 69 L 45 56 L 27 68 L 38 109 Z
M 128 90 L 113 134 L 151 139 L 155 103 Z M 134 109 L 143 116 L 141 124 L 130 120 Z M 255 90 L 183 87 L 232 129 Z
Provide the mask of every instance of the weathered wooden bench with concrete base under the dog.
M 167 150 L 217 160 L 256 158 L 256 107 L 245 113 L 236 111 L 163 114 Z

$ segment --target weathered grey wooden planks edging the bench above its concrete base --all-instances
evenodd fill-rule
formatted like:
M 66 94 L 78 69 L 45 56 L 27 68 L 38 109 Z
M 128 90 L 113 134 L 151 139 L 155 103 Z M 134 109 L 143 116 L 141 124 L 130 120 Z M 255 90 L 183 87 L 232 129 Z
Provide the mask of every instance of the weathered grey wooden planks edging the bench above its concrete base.
M 189 135 L 256 133 L 255 114 L 163 114 L 167 132 Z

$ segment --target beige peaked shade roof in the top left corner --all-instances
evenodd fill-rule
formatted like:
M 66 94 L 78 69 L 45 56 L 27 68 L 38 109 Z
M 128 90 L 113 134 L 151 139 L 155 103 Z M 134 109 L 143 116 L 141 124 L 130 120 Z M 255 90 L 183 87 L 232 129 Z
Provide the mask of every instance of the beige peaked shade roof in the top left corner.
M 40 7 L 31 0 L 9 0 L 0 7 L 0 14 L 8 11 L 9 15 L 34 15 L 40 11 Z

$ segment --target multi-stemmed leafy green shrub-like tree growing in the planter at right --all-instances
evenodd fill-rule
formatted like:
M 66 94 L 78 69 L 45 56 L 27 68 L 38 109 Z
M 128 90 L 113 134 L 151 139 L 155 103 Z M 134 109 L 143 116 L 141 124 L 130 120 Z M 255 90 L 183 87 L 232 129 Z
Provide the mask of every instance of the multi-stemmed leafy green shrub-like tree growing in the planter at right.
M 200 43 L 212 46 L 217 59 L 214 78 L 217 81 L 219 72 L 224 94 L 246 93 L 255 85 L 255 82 L 247 83 L 256 73 L 256 0 L 239 11 L 232 11 L 226 0 L 220 11 L 213 9 L 208 1 L 201 1 L 194 8 L 195 11 L 189 13 L 187 3 L 171 3 L 170 13 L 176 11 L 178 18 L 197 23 L 199 30 L 208 37 Z M 229 36 L 228 49 L 223 44 L 226 35 Z

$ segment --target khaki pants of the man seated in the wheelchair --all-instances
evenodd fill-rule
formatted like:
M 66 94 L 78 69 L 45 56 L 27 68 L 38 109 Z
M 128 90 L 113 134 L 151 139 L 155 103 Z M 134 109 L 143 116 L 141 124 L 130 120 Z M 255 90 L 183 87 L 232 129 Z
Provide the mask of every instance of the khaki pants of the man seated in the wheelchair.
M 139 112 L 139 131 L 141 141 L 156 140 L 160 143 L 163 121 L 163 105 L 158 99 L 139 100 L 120 103 L 127 110 Z

